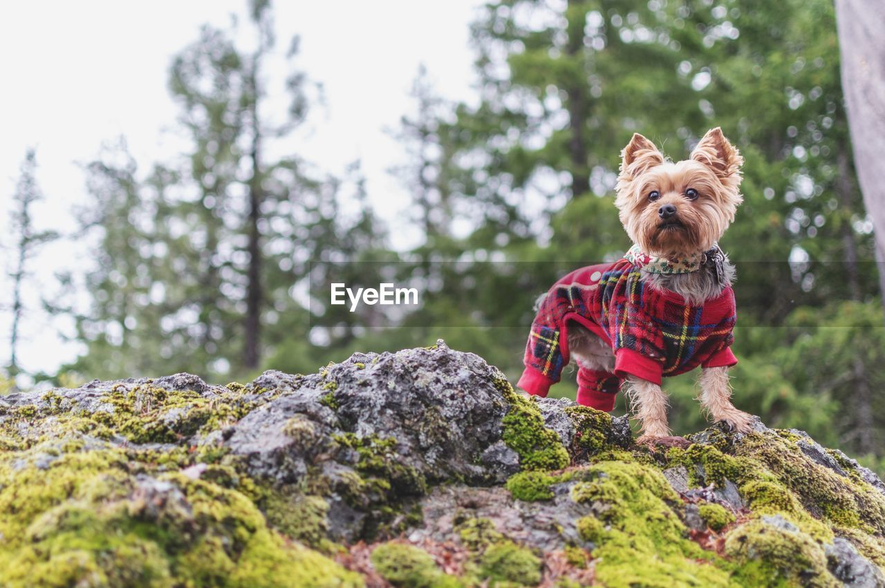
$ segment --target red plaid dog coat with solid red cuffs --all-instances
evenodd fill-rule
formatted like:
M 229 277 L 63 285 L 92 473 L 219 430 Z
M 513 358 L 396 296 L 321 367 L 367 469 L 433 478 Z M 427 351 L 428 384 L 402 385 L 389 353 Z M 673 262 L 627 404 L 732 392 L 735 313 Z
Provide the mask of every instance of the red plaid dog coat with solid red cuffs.
M 686 304 L 680 294 L 647 286 L 640 265 L 625 258 L 590 265 L 560 279 L 544 298 L 532 323 L 517 386 L 546 396 L 568 363 L 569 321 L 596 333 L 612 346 L 614 372 L 578 367 L 578 403 L 614 409 L 615 395 L 628 375 L 660 384 L 698 365 L 735 365 L 735 293 L 726 287 L 703 306 Z

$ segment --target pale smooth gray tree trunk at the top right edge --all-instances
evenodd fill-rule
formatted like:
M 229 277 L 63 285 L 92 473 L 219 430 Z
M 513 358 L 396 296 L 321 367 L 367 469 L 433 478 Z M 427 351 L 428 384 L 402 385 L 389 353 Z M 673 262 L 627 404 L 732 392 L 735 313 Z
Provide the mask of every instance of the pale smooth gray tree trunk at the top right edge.
M 879 285 L 885 303 L 885 4 L 836 0 L 842 86 L 854 166 L 866 212 L 873 219 Z

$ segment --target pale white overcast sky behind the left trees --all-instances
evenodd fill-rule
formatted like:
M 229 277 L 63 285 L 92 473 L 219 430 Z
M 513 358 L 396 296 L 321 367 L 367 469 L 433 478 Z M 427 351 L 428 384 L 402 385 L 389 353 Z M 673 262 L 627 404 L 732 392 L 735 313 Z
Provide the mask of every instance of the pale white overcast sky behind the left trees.
M 473 96 L 469 25 L 479 0 L 278 0 L 282 49 L 301 37 L 296 64 L 323 87 L 325 106 L 312 111 L 298 152 L 323 172 L 341 174 L 359 159 L 381 217 L 396 223 L 409 202 L 388 170 L 404 148 L 387 130 L 411 111 L 408 92 L 424 64 L 437 91 L 451 100 Z M 26 149 L 37 150 L 37 181 L 45 200 L 38 228 L 69 235 L 72 210 L 88 202 L 82 164 L 104 142 L 124 136 L 141 170 L 181 151 L 173 133 L 177 109 L 166 89 L 173 55 L 209 22 L 244 19 L 246 0 L 31 0 L 0 9 L 0 365 L 8 363 L 12 239 L 8 212 Z M 268 72 L 273 75 L 273 71 Z M 285 72 L 280 72 L 284 74 Z M 408 233 L 395 232 L 407 240 Z M 401 241 L 394 245 L 404 246 Z M 53 372 L 81 351 L 63 334 L 71 325 L 40 312 L 57 271 L 89 266 L 75 239 L 42 249 L 26 288 L 31 309 L 19 363 Z

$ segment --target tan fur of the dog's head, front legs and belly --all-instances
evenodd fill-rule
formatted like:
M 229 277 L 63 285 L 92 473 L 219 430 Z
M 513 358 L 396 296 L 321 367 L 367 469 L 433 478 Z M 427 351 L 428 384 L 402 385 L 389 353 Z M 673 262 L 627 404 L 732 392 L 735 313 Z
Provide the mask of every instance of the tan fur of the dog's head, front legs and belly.
M 641 134 L 634 134 L 621 152 L 617 198 L 621 223 L 643 251 L 657 256 L 692 256 L 712 248 L 735 219 L 743 202 L 741 165 L 743 157 L 719 127 L 704 134 L 689 159 L 673 163 Z M 686 190 L 698 192 L 689 200 Z M 660 198 L 650 201 L 657 191 Z M 678 228 L 663 228 L 658 210 L 665 204 L 676 207 Z M 592 337 L 592 333 L 589 333 Z M 569 337 L 570 344 L 572 337 Z M 575 335 L 579 361 L 600 364 L 598 345 L 584 333 Z M 708 415 L 724 421 L 736 431 L 750 430 L 750 416 L 731 403 L 727 368 L 704 369 L 699 400 Z M 624 385 L 631 408 L 642 424 L 639 442 L 667 438 L 667 396 L 661 386 L 630 377 Z

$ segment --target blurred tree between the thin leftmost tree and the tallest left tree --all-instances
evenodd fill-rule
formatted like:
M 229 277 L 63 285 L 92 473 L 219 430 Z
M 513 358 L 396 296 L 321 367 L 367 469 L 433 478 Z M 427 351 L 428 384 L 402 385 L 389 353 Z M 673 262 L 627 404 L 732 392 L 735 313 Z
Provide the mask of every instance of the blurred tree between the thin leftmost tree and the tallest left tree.
M 92 267 L 84 271 L 89 308 L 62 296 L 56 312 L 71 315 L 75 339 L 87 352 L 68 370 L 101 377 L 152 374 L 161 366 L 184 371 L 193 355 L 181 353 L 181 333 L 164 320 L 181 309 L 182 282 L 172 251 L 183 239 L 166 191 L 178 178 L 162 168 L 139 177 L 127 143 L 108 144 L 86 166 L 89 207 L 77 213 L 78 238 L 91 245 Z M 183 232 L 181 232 L 183 233 Z M 73 271 L 60 276 L 65 290 Z

